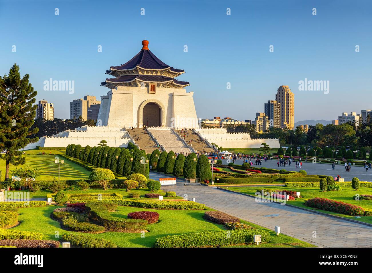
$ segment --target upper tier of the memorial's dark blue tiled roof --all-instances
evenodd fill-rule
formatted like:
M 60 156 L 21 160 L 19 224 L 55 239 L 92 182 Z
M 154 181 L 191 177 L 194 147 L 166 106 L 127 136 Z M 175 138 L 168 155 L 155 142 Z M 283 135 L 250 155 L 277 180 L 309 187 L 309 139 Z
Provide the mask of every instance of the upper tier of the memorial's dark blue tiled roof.
M 145 69 L 166 69 L 171 68 L 170 70 L 173 72 L 183 72 L 183 69 L 176 69 L 172 68 L 164 62 L 160 61 L 150 50 L 142 49 L 135 55 L 132 59 L 126 62 L 123 65 L 118 66 L 111 66 L 111 68 L 118 69 L 118 70 L 125 70 L 125 69 L 133 69 L 136 66 L 140 66 Z

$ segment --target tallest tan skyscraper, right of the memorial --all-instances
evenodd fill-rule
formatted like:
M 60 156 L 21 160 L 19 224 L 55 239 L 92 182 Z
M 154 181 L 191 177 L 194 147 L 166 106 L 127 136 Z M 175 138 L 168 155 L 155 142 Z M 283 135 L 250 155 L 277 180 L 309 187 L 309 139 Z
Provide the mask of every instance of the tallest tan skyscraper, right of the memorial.
M 275 95 L 275 100 L 280 103 L 280 126 L 294 130 L 295 127 L 295 94 L 288 85 L 280 85 Z

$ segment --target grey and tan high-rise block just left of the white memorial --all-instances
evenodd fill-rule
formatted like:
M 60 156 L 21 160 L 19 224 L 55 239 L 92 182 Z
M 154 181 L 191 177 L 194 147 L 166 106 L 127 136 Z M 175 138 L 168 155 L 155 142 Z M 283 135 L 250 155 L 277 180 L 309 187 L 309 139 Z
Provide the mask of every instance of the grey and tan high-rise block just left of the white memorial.
M 96 96 L 85 96 L 70 102 L 70 119 L 81 117 L 83 120 L 97 120 L 101 102 Z

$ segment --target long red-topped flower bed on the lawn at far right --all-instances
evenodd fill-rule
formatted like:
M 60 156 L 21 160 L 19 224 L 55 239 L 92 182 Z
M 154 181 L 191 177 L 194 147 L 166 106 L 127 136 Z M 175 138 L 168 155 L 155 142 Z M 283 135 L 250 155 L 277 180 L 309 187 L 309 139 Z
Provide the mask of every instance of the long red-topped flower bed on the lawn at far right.
M 362 207 L 327 198 L 316 197 L 308 199 L 305 201 L 305 205 L 312 208 L 320 208 L 325 211 L 333 211 L 347 215 L 364 215 L 364 209 Z

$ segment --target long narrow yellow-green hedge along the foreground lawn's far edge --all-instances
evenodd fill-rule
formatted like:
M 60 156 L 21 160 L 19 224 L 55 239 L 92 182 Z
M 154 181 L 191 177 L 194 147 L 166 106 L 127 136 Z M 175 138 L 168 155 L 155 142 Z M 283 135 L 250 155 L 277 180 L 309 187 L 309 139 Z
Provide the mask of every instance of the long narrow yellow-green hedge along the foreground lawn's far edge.
M 72 201 L 75 202 L 75 201 Z M 81 202 L 81 201 L 80 201 Z M 87 200 L 89 202 L 89 200 Z M 92 201 L 90 201 L 92 202 Z M 92 202 L 93 203 L 93 202 Z M 129 206 L 137 208 L 150 208 L 150 209 L 184 209 L 184 210 L 202 210 L 204 204 L 199 204 L 193 201 L 157 201 L 157 200 L 102 200 L 94 203 L 115 203 L 119 206 Z M 87 206 L 87 204 L 86 204 Z

